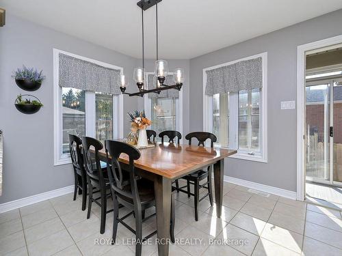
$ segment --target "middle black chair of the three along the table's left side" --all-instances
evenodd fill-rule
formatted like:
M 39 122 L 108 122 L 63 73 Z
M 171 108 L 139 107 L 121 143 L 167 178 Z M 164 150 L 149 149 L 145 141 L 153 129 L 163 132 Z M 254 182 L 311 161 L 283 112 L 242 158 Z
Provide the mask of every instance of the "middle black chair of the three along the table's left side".
M 92 210 L 92 203 L 96 203 L 101 208 L 101 227 L 100 233 L 105 233 L 106 214 L 112 212 L 113 209 L 107 210 L 107 198 L 111 197 L 109 179 L 107 169 L 101 167 L 101 161 L 98 151 L 103 149 L 103 145 L 97 139 L 91 137 L 82 137 L 83 162 L 87 173 L 88 180 L 88 214 Z M 94 198 L 94 188 L 98 188 L 100 197 Z M 109 191 L 109 193 L 107 193 Z M 98 200 L 101 200 L 100 202 Z

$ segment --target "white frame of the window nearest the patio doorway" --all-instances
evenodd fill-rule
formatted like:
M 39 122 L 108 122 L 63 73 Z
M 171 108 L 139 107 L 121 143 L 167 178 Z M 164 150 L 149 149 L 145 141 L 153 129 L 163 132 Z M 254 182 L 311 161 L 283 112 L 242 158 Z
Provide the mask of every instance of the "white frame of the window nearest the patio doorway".
M 232 65 L 239 61 L 245 61 L 248 59 L 262 58 L 263 68 L 263 88 L 261 89 L 260 99 L 260 130 L 261 141 L 260 151 L 261 154 L 248 154 L 250 152 L 244 150 L 237 150 L 237 154 L 230 156 L 231 158 L 252 160 L 257 162 L 267 162 L 267 52 L 257 55 L 237 59 L 235 61 L 229 61 L 217 66 L 211 66 L 203 69 L 203 130 L 213 132 L 213 96 L 207 96 L 205 94 L 205 87 L 207 85 L 207 71 L 223 66 Z M 239 94 L 231 93 L 229 98 L 229 148 L 237 149 L 239 143 Z M 216 144 L 220 147 L 220 145 Z

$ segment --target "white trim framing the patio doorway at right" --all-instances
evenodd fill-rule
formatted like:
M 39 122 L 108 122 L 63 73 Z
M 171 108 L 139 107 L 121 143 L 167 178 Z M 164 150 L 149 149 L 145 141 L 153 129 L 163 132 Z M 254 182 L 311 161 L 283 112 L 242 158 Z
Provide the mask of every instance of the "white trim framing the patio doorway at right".
M 305 199 L 305 54 L 317 48 L 341 44 L 342 35 L 327 38 L 297 48 L 297 199 Z

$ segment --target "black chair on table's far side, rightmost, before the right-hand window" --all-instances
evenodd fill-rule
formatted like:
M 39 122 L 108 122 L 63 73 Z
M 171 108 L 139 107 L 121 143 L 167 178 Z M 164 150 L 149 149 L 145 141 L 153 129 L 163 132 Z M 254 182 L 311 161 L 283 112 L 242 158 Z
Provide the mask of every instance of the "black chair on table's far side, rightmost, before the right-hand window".
M 190 132 L 185 136 L 185 139 L 189 141 L 189 145 L 192 145 L 192 139 L 196 138 L 198 140 L 198 146 L 205 146 L 205 141 L 207 139 L 210 139 L 211 143 L 210 146 L 213 147 L 214 142 L 216 142 L 218 139 L 216 136 L 210 132 Z M 182 179 L 185 179 L 187 181 L 187 185 L 179 188 L 178 190 L 186 193 L 187 197 L 193 196 L 194 197 L 194 204 L 195 204 L 195 220 L 198 221 L 198 204 L 200 201 L 205 199 L 205 197 L 209 196 L 209 201 L 211 206 L 213 206 L 213 188 L 211 185 L 211 176 L 213 172 L 213 165 L 209 165 L 207 169 L 196 171 L 194 173 L 191 173 L 189 175 L 186 175 L 182 177 Z M 200 184 L 202 180 L 207 179 L 207 182 Z M 190 184 L 194 185 L 194 193 L 190 192 Z M 183 188 L 187 188 L 187 190 L 183 190 Z M 200 198 L 200 189 L 206 188 L 208 190 L 208 193 L 205 194 L 203 197 Z

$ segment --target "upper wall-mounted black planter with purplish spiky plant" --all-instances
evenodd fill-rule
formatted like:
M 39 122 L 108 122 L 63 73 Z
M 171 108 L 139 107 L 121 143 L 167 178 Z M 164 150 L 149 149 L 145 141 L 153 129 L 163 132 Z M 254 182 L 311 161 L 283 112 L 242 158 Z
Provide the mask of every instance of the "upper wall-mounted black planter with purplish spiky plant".
M 21 89 L 25 91 L 36 91 L 42 85 L 42 81 L 44 81 L 45 76 L 42 74 L 42 70 L 38 72 L 38 70 L 34 70 L 34 68 L 18 68 L 14 72 L 13 75 L 14 79 L 16 80 L 16 84 Z

